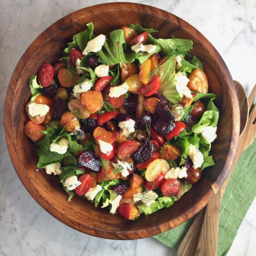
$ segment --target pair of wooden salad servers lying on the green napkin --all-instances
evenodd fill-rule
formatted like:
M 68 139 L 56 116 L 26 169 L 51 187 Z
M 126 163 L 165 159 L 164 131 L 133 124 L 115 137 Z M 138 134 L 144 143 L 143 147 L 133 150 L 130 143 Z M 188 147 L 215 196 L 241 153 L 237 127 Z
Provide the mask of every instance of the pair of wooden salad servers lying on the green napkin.
M 238 141 L 238 147 L 236 152 L 236 157 L 230 168 L 229 175 L 225 182 L 223 183 L 221 189 L 214 196 L 214 198 L 208 203 L 208 205 L 203 209 L 195 218 L 195 221 L 190 226 L 187 234 L 184 236 L 182 243 L 178 248 L 178 256 L 215 256 L 217 255 L 217 240 L 218 240 L 218 226 L 219 226 L 219 209 L 222 195 L 227 187 L 229 178 L 236 166 L 240 155 L 243 150 L 252 143 L 256 135 L 255 127 L 245 127 L 247 126 L 248 116 L 249 116 L 249 106 L 251 106 L 256 93 L 256 86 L 254 87 L 252 93 L 249 96 L 249 101 L 246 97 L 243 86 L 235 82 L 236 91 L 238 95 L 239 107 L 240 107 L 240 137 Z M 253 126 L 253 121 L 256 115 L 256 108 L 254 108 L 254 113 L 251 113 L 249 118 L 249 125 Z M 244 133 L 244 131 L 246 132 Z M 248 139 L 249 137 L 249 139 Z M 248 143 L 245 143 L 245 140 Z

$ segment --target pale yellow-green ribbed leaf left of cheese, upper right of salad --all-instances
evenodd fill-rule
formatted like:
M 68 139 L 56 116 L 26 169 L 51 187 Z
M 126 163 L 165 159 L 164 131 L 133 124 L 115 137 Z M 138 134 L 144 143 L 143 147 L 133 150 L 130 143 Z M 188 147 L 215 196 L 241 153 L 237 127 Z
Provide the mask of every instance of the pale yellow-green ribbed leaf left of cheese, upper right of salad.
M 175 86 L 175 55 L 169 57 L 155 72 L 161 79 L 161 87 L 158 90 L 162 93 L 171 105 L 178 104 L 181 101 Z

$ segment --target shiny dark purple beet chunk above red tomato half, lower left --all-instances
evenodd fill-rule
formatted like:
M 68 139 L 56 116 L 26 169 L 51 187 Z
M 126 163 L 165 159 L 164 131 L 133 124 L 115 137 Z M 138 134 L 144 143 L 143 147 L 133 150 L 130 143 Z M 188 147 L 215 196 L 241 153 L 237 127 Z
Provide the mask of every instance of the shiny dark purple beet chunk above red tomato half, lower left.
M 99 158 L 91 151 L 82 152 L 78 158 L 78 163 L 80 164 L 81 168 L 87 171 L 96 173 L 101 171 Z

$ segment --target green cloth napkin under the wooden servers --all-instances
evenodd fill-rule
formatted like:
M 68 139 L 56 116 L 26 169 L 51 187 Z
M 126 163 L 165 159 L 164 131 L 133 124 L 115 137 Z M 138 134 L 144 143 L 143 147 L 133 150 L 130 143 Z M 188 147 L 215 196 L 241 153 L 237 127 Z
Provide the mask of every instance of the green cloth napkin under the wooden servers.
M 219 219 L 218 256 L 228 253 L 237 230 L 256 196 L 255 154 L 256 140 L 244 150 L 239 158 L 222 197 Z M 178 227 L 154 237 L 168 247 L 178 249 L 194 219 L 195 216 Z

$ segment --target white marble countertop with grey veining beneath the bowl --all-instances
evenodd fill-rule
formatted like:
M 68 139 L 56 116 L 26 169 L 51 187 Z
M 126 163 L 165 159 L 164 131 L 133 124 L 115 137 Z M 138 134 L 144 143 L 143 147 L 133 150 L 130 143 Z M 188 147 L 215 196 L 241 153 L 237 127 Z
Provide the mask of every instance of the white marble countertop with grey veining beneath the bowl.
M 154 238 L 113 241 L 73 230 L 50 216 L 28 194 L 10 161 L 3 112 L 8 82 L 29 44 L 56 20 L 103 0 L 0 1 L 0 255 L 175 255 Z M 139 0 L 188 21 L 226 62 L 233 79 L 251 91 L 256 83 L 255 0 Z M 256 255 L 256 200 L 238 230 L 229 256 Z M 148 250 L 150 246 L 150 250 Z

